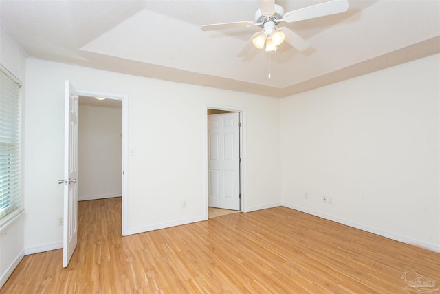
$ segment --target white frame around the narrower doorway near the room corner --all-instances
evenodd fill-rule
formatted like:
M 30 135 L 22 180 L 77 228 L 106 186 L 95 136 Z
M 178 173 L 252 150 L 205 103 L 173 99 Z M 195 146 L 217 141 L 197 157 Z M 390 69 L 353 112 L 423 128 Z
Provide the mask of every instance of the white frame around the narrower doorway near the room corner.
M 208 109 L 215 110 L 225 110 L 228 112 L 238 112 L 241 122 L 240 127 L 240 158 L 241 158 L 241 167 L 240 167 L 240 189 L 241 189 L 241 201 L 240 201 L 240 211 L 248 212 L 248 191 L 246 187 L 247 185 L 247 174 L 248 174 L 248 160 L 246 158 L 246 109 L 241 107 L 227 106 L 227 105 L 214 105 L 207 104 L 203 109 L 203 117 L 204 117 L 204 128 L 203 128 L 203 140 L 205 144 L 205 152 L 204 152 L 204 182 L 205 182 L 205 218 L 208 220 Z

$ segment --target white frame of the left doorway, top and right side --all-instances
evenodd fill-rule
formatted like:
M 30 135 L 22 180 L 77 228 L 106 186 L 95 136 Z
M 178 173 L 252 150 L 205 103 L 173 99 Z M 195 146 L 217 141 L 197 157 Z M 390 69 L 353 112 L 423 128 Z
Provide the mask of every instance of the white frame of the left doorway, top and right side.
M 128 182 L 129 182 L 129 95 L 76 89 L 79 96 L 103 97 L 122 101 L 122 235 L 128 233 Z

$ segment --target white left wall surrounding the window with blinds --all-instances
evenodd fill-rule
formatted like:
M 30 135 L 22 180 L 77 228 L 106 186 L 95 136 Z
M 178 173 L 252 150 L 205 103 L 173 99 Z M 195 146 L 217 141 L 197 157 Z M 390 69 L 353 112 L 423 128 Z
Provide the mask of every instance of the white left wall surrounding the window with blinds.
M 0 27 L 0 64 L 9 72 L 14 74 L 21 83 L 23 112 L 25 105 L 25 56 L 21 49 L 8 34 Z M 22 140 L 22 145 L 24 141 Z M 24 187 L 22 186 L 22 193 Z M 23 199 L 22 199 L 23 205 Z M 24 222 L 23 213 L 8 221 L 7 224 L 3 218 L 0 223 L 0 288 L 8 280 L 8 277 L 14 271 L 15 266 L 19 264 L 24 256 Z

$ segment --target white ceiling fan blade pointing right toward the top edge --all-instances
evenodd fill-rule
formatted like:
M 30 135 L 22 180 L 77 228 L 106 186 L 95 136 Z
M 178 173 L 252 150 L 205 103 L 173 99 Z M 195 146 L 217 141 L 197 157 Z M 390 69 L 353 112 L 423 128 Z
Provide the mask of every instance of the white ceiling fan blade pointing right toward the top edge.
M 325 15 L 346 12 L 349 9 L 348 0 L 333 0 L 325 3 L 316 4 L 286 12 L 283 21 L 292 23 L 293 21 L 303 21 L 305 19 L 314 19 L 315 17 L 324 17 Z

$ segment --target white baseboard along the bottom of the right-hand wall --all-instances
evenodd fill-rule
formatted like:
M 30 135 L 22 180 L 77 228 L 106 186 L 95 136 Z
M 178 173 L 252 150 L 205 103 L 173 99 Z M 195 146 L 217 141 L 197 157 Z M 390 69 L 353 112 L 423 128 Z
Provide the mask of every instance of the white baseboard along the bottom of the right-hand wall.
M 414 239 L 411 239 L 411 238 L 408 238 L 408 237 L 405 237 L 405 236 L 402 236 L 402 235 L 396 235 L 394 233 L 390 233 L 390 232 L 387 232 L 387 231 L 380 231 L 380 230 L 377 230 L 377 229 L 374 229 L 374 228 L 371 228 L 371 227 L 366 227 L 366 226 L 364 226 L 362 224 L 358 224 L 356 222 L 351 222 L 350 220 L 345 220 L 343 218 L 337 218 L 335 216 L 329 216 L 329 215 L 327 215 L 325 213 L 320 213 L 318 211 L 313 211 L 313 210 L 310 210 L 310 209 L 306 209 L 304 207 L 297 207 L 296 205 L 286 204 L 286 203 L 283 204 L 283 206 L 284 207 L 288 207 L 290 209 L 295 209 L 295 210 L 298 210 L 298 211 L 302 211 L 302 212 L 311 214 L 312 216 L 318 216 L 319 218 L 325 218 L 326 220 L 331 220 L 333 222 L 338 222 L 340 224 L 345 224 L 345 225 L 347 225 L 349 227 L 353 227 L 355 229 L 360 229 L 362 231 L 373 233 L 375 235 L 380 235 L 382 237 L 385 237 L 385 238 L 388 238 L 388 239 L 391 239 L 391 240 L 395 240 L 395 241 L 399 241 L 399 242 L 402 242 L 402 243 L 405 243 L 405 244 L 410 244 L 410 245 L 418 246 L 418 247 L 421 247 L 423 249 L 428 249 L 430 251 L 434 251 L 434 252 L 440 253 L 439 246 L 437 246 L 435 244 L 430 244 L 430 243 L 422 242 L 420 240 L 414 240 Z

